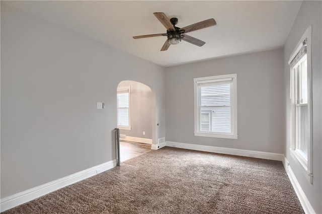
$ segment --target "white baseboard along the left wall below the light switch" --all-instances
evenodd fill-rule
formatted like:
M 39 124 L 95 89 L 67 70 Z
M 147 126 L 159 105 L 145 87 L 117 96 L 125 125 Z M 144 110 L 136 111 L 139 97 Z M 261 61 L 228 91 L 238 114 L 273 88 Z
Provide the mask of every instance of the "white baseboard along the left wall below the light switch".
M 62 187 L 68 186 L 70 184 L 92 177 L 98 173 L 112 169 L 115 166 L 116 166 L 116 160 L 109 161 L 104 164 L 100 164 L 95 167 L 91 167 L 89 169 L 83 170 L 81 172 L 77 172 L 72 175 L 57 179 L 55 181 L 51 181 L 49 183 L 2 198 L 0 203 L 0 206 L 1 206 L 0 211 L 3 212 L 7 209 L 11 209 L 15 206 L 31 201 L 35 198 L 38 198 L 40 196 L 53 192 Z

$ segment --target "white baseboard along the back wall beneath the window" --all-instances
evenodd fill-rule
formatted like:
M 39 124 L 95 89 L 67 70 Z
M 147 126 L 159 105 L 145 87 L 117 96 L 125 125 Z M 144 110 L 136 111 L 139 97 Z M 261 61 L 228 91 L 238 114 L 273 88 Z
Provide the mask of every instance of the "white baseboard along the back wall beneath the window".
M 259 152 L 259 151 L 252 151 L 252 150 L 239 150 L 239 149 L 230 149 L 230 148 L 223 148 L 223 147 L 203 146 L 203 145 L 196 145 L 196 144 L 184 144 L 182 142 L 172 142 L 172 141 L 167 141 L 166 145 L 167 147 L 177 147 L 181 149 L 220 153 L 220 154 L 226 154 L 226 155 L 237 155 L 237 156 L 261 158 L 261 159 L 268 159 L 268 160 L 275 160 L 275 161 L 284 160 L 284 155 L 278 154 L 278 153 L 267 153 L 267 152 Z

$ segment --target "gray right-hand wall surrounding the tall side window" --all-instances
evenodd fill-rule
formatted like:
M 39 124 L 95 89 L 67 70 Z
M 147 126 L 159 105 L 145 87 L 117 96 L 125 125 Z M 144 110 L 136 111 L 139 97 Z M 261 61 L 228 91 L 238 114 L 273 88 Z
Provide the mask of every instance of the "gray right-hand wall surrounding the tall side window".
M 303 1 L 302 6 L 294 21 L 293 27 L 286 40 L 284 46 L 284 75 L 285 75 L 285 97 L 286 103 L 286 142 L 285 142 L 285 155 L 290 163 L 290 167 L 294 172 L 296 179 L 298 180 L 301 188 L 303 189 L 310 204 L 314 208 L 316 213 L 322 213 L 322 108 L 321 108 L 321 82 L 322 82 L 322 66 L 321 66 L 321 17 L 322 4 L 320 1 Z M 313 107 L 313 184 L 303 177 L 300 167 L 296 160 L 290 155 L 290 68 L 288 65 L 288 59 L 292 54 L 292 51 L 296 47 L 298 41 L 302 37 L 303 33 L 309 25 L 312 25 L 312 107 Z

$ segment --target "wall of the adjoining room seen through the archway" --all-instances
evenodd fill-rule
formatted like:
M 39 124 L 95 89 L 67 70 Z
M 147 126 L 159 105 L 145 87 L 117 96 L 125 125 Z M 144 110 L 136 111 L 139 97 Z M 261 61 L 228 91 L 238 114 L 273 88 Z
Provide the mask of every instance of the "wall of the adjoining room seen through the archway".
M 118 87 L 131 87 L 131 130 L 120 129 L 121 134 L 131 137 L 152 138 L 152 93 L 151 89 L 138 82 L 122 81 Z M 145 131 L 145 135 L 143 135 Z

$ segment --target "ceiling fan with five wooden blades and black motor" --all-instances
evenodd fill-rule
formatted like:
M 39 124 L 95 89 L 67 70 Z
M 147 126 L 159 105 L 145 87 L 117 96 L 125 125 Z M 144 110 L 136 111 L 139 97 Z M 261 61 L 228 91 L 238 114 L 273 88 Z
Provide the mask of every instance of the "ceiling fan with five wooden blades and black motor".
M 153 14 L 167 28 L 167 33 L 133 36 L 133 39 L 140 39 L 140 38 L 147 38 L 147 37 L 154 37 L 154 36 L 167 36 L 168 39 L 166 40 L 165 44 L 162 46 L 161 51 L 168 50 L 170 45 L 179 44 L 181 40 L 184 40 L 186 42 L 189 42 L 191 44 L 201 47 L 206 42 L 196 39 L 192 36 L 188 36 L 185 33 L 200 30 L 203 28 L 208 28 L 217 24 L 214 19 L 207 19 L 205 21 L 198 22 L 198 23 L 186 26 L 184 28 L 178 28 L 176 27 L 176 24 L 178 24 L 177 18 L 169 19 L 164 13 L 153 13 Z

